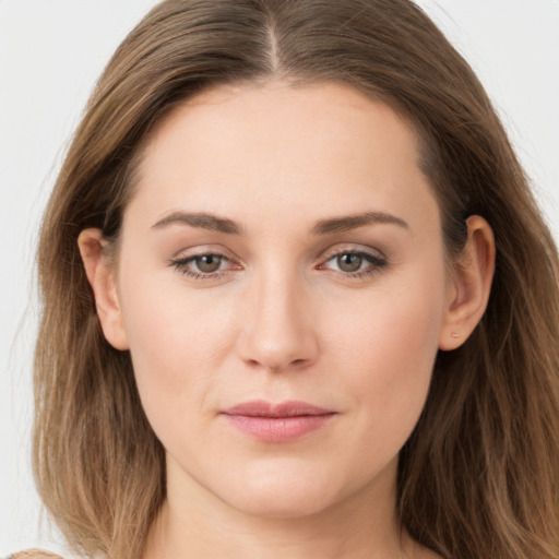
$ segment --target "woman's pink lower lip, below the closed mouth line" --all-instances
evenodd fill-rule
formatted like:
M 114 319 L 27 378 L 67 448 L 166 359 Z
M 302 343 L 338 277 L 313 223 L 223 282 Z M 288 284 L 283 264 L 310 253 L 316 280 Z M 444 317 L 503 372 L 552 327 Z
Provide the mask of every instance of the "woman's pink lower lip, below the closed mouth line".
M 335 414 L 261 417 L 224 414 L 230 425 L 262 442 L 289 442 L 324 427 Z

